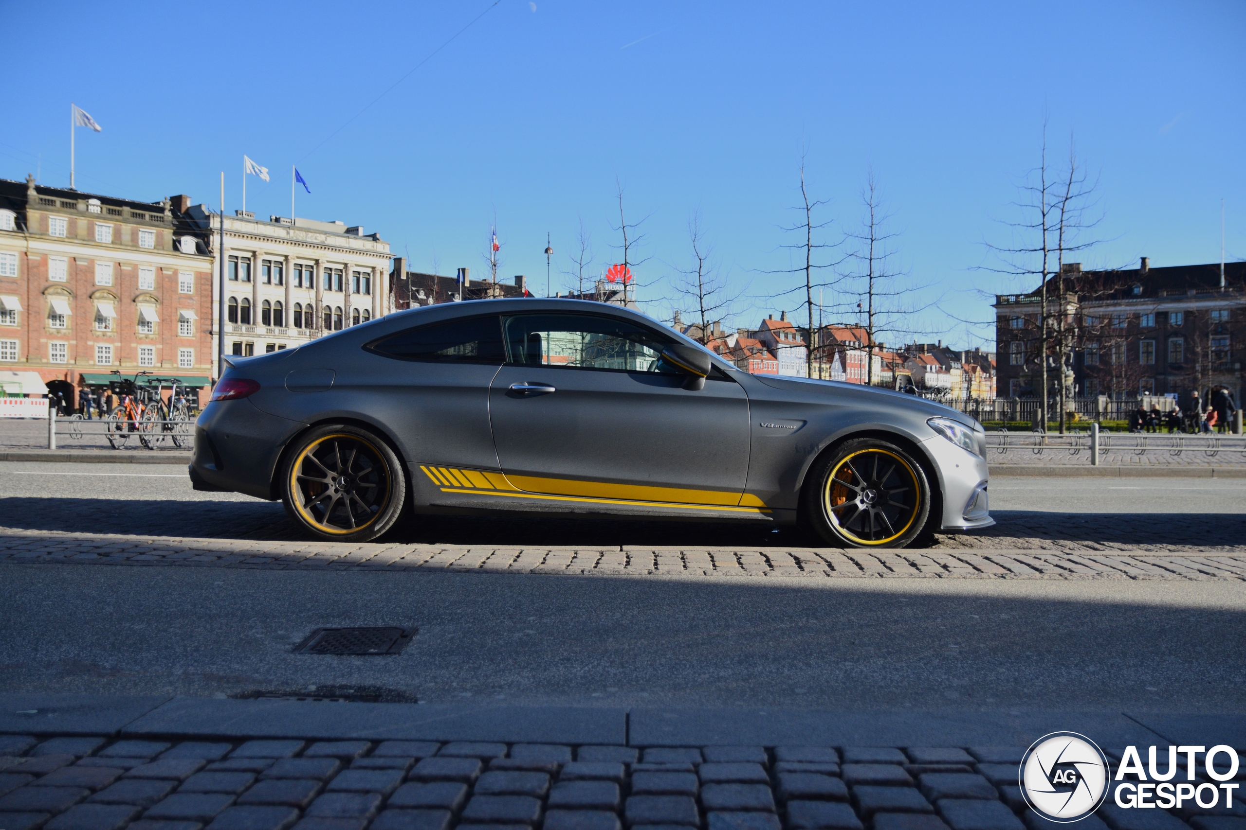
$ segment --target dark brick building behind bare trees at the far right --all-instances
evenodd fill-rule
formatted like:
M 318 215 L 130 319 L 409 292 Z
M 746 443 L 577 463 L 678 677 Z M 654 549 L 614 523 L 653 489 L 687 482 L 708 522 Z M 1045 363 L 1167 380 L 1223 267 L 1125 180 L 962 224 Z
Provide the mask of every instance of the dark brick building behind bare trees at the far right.
M 1184 396 L 1224 386 L 1241 401 L 1246 263 L 1083 271 L 1065 265 L 1048 281 L 1050 326 L 1060 317 L 1069 396 Z M 999 392 L 1034 397 L 1040 377 L 1040 296 L 996 296 Z M 1050 393 L 1059 391 L 1057 335 L 1049 337 Z

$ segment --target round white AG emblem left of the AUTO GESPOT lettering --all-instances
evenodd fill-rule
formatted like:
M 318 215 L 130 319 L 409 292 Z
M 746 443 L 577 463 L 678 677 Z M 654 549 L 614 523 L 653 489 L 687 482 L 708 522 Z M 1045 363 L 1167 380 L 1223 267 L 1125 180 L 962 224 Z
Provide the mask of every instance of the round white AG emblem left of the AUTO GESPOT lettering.
M 1025 803 L 1052 821 L 1078 821 L 1108 795 L 1108 758 L 1093 740 L 1075 732 L 1043 735 L 1020 762 Z

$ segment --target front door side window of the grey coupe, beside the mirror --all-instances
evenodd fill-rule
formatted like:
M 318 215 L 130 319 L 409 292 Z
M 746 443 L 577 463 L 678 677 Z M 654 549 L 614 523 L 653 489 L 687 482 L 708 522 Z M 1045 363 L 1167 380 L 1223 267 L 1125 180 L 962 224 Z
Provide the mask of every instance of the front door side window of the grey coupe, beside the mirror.
M 627 320 L 587 314 L 523 314 L 503 317 L 502 329 L 511 363 L 669 371 L 659 366 L 659 358 L 672 341 Z

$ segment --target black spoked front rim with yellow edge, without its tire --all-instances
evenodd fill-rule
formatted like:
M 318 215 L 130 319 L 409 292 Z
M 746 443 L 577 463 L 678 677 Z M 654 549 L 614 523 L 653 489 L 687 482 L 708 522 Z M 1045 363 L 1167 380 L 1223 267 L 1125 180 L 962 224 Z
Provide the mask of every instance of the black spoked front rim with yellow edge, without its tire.
M 917 519 L 920 506 L 917 473 L 886 449 L 860 449 L 840 459 L 822 485 L 827 520 L 858 545 L 880 546 L 900 539 Z

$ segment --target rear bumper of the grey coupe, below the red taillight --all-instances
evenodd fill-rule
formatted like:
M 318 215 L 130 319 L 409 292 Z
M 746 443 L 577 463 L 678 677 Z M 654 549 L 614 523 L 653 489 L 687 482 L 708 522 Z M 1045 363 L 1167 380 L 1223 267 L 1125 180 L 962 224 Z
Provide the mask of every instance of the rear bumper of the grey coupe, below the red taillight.
M 248 399 L 209 403 L 194 424 L 191 483 L 196 490 L 277 500 L 273 477 L 282 450 L 304 424 L 268 414 Z

